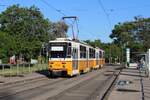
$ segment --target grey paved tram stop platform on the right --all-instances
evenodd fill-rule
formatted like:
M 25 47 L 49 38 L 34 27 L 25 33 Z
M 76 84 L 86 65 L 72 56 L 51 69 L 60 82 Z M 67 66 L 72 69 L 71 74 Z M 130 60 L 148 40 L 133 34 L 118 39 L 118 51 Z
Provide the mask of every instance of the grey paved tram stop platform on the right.
M 150 100 L 150 78 L 136 68 L 123 69 L 108 100 Z

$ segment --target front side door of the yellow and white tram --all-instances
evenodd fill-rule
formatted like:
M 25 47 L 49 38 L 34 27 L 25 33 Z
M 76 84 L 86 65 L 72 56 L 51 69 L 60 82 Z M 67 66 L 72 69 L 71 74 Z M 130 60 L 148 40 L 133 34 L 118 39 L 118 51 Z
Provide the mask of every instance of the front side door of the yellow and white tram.
M 73 48 L 73 52 L 72 52 L 72 55 L 73 55 L 73 70 L 77 70 L 78 69 L 78 49 L 77 48 Z

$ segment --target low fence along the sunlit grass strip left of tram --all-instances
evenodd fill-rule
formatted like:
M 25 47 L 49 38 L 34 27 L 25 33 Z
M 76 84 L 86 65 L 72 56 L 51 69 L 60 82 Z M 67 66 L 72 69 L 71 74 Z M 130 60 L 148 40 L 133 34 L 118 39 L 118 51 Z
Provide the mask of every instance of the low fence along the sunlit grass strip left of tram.
M 48 64 L 0 64 L 1 76 L 16 76 L 25 73 L 47 70 Z

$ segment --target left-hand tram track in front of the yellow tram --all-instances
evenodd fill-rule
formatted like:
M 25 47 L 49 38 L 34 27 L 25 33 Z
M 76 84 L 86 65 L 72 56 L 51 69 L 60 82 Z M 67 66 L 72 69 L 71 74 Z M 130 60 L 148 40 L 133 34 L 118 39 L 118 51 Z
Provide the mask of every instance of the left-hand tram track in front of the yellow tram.
M 67 80 L 67 81 L 65 81 Z M 40 83 L 43 83 L 42 85 L 39 85 L 39 81 Z M 18 84 L 13 84 L 13 85 L 9 85 L 9 86 L 6 86 L 6 87 L 3 87 L 0 89 L 0 99 L 2 98 L 7 98 L 9 96 L 12 96 L 12 95 L 16 95 L 18 93 L 23 93 L 23 92 L 28 92 L 28 91 L 32 91 L 32 90 L 36 90 L 36 89 L 40 89 L 41 87 L 46 87 L 46 86 L 50 86 L 50 85 L 55 85 L 55 83 L 58 83 L 58 85 L 60 84 L 59 82 L 63 82 L 65 81 L 63 84 L 69 84 L 69 83 L 72 83 L 73 81 L 70 82 L 69 79 L 65 79 L 65 78 L 59 78 L 59 79 L 45 79 L 45 78 L 42 78 L 42 79 L 36 79 L 36 80 L 32 80 L 32 81 L 29 81 L 29 82 L 25 82 L 25 83 L 18 83 Z M 76 80 L 74 80 L 76 81 Z M 36 85 L 36 82 L 38 82 Z M 34 84 L 34 86 L 31 86 L 32 84 Z M 25 87 L 25 88 L 23 88 Z M 7 91 L 11 91 L 13 93 L 10 93 L 10 94 L 6 94 L 4 95 L 3 93 L 6 93 Z

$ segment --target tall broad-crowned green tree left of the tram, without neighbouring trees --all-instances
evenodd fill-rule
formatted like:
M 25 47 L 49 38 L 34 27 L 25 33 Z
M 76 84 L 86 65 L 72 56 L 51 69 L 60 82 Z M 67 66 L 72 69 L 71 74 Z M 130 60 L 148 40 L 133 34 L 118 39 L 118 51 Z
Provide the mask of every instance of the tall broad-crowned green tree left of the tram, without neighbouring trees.
M 0 14 L 0 23 L 0 30 L 13 37 L 12 52 L 18 57 L 23 55 L 27 60 L 37 57 L 42 43 L 48 41 L 50 22 L 35 6 L 10 6 Z

